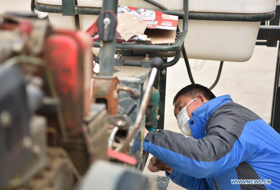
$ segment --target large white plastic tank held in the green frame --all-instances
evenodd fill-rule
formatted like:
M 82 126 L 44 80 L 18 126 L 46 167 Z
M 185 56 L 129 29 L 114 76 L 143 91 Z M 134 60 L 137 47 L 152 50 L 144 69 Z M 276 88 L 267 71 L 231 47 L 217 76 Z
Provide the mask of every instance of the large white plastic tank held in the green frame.
M 61 0 L 36 2 L 62 5 Z M 156 0 L 172 11 L 183 10 L 183 0 Z M 102 7 L 102 0 L 77 0 L 81 7 Z M 143 0 L 119 0 L 119 5 L 159 10 Z M 189 12 L 268 13 L 276 0 L 189 0 Z M 75 29 L 73 16 L 49 13 L 55 27 Z M 97 16 L 79 15 L 81 30 L 87 30 Z M 178 25 L 182 30 L 183 21 Z M 251 58 L 260 22 L 189 20 L 184 45 L 188 58 L 244 62 Z

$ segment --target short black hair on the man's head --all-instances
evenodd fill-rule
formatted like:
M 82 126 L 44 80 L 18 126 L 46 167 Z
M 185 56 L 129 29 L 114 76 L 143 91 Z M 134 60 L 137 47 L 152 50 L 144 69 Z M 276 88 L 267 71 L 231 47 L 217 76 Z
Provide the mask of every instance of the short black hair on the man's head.
M 175 105 L 176 100 L 180 95 L 188 96 L 193 99 L 197 97 L 197 95 L 203 95 L 207 100 L 212 100 L 216 98 L 216 96 L 209 90 L 207 87 L 202 86 L 200 84 L 191 84 L 182 88 L 174 97 L 173 105 Z

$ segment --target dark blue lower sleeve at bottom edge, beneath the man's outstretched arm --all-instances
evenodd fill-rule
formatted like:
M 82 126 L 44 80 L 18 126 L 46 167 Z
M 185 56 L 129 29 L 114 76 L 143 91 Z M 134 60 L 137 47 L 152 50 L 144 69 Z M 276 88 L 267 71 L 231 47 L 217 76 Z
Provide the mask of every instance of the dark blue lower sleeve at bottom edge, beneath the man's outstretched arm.
M 204 178 L 198 179 L 191 176 L 188 176 L 186 174 L 178 173 L 176 170 L 173 169 L 172 174 L 169 174 L 168 172 L 165 172 L 167 177 L 170 177 L 170 179 L 176 183 L 177 185 L 180 185 L 183 188 L 192 190 L 192 189 L 200 189 L 200 190 L 208 190 L 211 189 L 206 180 Z

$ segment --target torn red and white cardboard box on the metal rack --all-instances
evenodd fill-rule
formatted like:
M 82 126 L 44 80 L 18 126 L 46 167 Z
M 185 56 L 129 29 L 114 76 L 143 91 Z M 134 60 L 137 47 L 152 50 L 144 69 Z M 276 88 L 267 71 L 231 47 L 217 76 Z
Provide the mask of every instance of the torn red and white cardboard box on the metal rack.
M 117 42 L 119 43 L 170 44 L 175 42 L 178 16 L 121 5 L 118 6 L 117 15 L 117 31 L 119 32 Z

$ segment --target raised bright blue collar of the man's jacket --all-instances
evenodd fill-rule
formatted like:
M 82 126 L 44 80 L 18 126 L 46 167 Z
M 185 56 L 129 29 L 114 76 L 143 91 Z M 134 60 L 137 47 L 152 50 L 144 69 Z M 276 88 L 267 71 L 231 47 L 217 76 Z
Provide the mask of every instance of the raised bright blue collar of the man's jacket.
M 192 112 L 192 118 L 189 119 L 189 125 L 192 131 L 192 137 L 200 139 L 205 137 L 205 125 L 211 114 L 221 105 L 231 102 L 230 95 L 216 97 Z

